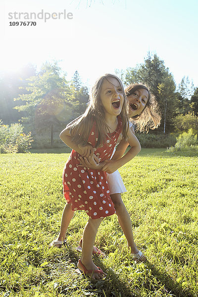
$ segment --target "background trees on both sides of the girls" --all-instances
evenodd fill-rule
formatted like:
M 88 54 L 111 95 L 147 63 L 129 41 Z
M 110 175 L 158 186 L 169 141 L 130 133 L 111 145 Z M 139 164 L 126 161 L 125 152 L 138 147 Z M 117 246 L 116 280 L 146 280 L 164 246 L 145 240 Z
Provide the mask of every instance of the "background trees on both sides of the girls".
M 188 76 L 178 88 L 169 68 L 156 54 L 148 52 L 144 63 L 126 70 L 116 69 L 125 86 L 146 84 L 159 103 L 161 125 L 152 133 L 167 134 L 198 131 L 198 88 Z M 37 72 L 27 65 L 21 72 L 0 75 L 0 119 L 4 124 L 20 122 L 32 135 L 49 131 L 51 144 L 54 132 L 59 132 L 72 119 L 81 115 L 89 100 L 78 71 L 71 81 L 66 79 L 58 62 L 46 62 Z

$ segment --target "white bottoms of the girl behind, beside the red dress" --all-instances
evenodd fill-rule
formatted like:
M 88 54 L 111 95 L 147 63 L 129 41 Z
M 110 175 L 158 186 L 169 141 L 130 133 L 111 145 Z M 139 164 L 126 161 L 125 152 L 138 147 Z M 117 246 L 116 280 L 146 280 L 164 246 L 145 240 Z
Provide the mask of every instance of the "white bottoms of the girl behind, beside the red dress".
M 106 180 L 108 183 L 110 195 L 116 194 L 116 193 L 124 193 L 127 192 L 124 183 L 122 181 L 121 175 L 118 170 L 111 174 L 106 174 Z

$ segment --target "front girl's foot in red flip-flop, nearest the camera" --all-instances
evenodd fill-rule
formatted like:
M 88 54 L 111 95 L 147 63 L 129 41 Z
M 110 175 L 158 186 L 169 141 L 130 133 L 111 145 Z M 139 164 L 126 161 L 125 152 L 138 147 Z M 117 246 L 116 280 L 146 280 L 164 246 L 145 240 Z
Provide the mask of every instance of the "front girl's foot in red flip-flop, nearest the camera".
M 79 270 L 83 271 L 86 276 L 89 276 L 93 280 L 100 280 L 106 275 L 106 273 L 104 273 L 101 268 L 97 267 L 93 261 L 87 263 L 85 267 L 81 259 L 79 259 L 77 266 Z

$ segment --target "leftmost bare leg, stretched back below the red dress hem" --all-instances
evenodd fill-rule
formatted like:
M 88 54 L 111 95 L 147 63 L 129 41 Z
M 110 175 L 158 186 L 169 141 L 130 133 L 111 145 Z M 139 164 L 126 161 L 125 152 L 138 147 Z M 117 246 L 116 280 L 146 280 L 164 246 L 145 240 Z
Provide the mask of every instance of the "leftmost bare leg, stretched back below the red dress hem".
M 57 241 L 64 242 L 65 240 L 65 234 L 67 231 L 67 228 L 69 226 L 69 223 L 71 222 L 71 219 L 73 218 L 74 211 L 71 209 L 71 203 L 66 204 L 63 212 L 62 212 L 62 219 L 61 219 L 61 225 L 60 225 L 60 232 L 58 234 L 58 237 L 53 241 L 54 243 Z M 60 247 L 61 245 L 56 245 L 56 247 Z

